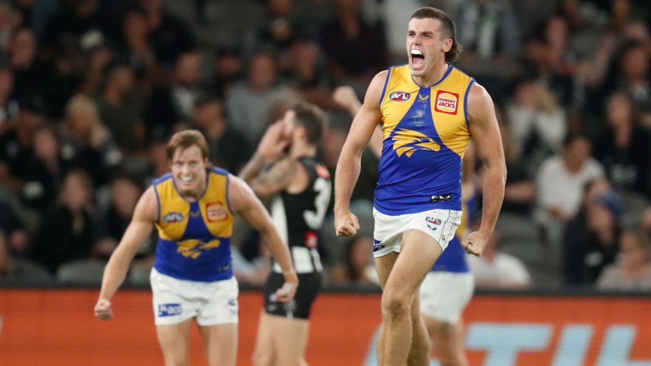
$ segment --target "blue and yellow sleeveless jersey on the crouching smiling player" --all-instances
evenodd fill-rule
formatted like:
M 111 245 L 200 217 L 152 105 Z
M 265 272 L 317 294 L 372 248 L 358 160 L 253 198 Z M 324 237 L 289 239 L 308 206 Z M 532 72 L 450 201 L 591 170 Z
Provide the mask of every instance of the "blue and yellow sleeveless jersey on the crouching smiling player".
M 158 199 L 159 236 L 154 268 L 161 274 L 190 281 L 232 277 L 229 173 L 220 168 L 209 171 L 206 191 L 197 202 L 186 201 L 171 173 L 153 184 Z

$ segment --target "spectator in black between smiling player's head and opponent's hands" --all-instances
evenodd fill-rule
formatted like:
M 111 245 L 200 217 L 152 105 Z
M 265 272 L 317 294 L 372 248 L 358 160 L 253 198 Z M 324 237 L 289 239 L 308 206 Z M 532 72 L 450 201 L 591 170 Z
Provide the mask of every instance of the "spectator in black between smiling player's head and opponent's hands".
M 227 122 L 223 100 L 210 96 L 198 100 L 195 120 L 210 147 L 210 162 L 238 174 L 253 152 L 242 132 Z

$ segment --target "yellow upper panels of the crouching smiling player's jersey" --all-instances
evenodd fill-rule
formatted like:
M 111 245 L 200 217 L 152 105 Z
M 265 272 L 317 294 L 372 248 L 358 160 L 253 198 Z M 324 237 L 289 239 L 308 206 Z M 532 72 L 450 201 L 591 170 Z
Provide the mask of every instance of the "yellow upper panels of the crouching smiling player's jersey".
M 194 236 L 194 227 L 198 223 L 193 225 L 188 223 L 195 220 L 201 220 L 212 236 L 230 237 L 233 216 L 227 203 L 227 177 L 214 171 L 208 172 L 206 192 L 199 199 L 198 204 L 192 205 L 178 193 L 171 175 L 161 178 L 155 186 L 159 202 L 159 218 L 156 222 L 159 237 L 175 242 L 191 239 Z M 195 209 L 191 210 L 191 206 L 195 206 Z M 187 243 L 184 246 L 178 244 L 180 252 L 186 251 L 181 248 L 187 248 Z

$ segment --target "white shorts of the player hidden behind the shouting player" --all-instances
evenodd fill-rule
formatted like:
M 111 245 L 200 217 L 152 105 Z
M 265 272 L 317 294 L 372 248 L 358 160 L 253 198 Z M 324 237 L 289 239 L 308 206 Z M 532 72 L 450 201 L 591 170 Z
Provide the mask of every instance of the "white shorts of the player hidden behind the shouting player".
M 470 272 L 430 272 L 421 284 L 421 313 L 439 322 L 455 323 L 475 290 Z

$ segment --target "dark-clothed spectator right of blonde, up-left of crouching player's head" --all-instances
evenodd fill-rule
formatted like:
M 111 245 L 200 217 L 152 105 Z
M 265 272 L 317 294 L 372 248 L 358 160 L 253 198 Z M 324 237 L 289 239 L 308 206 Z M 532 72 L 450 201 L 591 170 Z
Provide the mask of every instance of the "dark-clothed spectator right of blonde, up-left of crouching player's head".
M 115 66 L 106 77 L 104 92 L 97 98 L 100 119 L 127 156 L 139 152 L 145 141 L 145 126 L 133 87 L 130 68 Z

